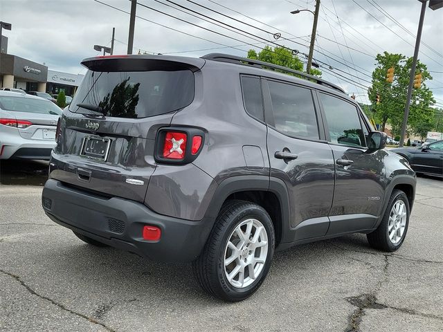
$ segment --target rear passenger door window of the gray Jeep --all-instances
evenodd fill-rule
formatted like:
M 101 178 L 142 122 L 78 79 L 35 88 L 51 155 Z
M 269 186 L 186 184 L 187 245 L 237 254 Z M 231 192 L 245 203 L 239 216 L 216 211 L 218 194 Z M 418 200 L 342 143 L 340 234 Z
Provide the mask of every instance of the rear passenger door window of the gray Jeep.
M 318 139 L 317 118 L 311 91 L 269 81 L 275 128 L 289 136 Z

